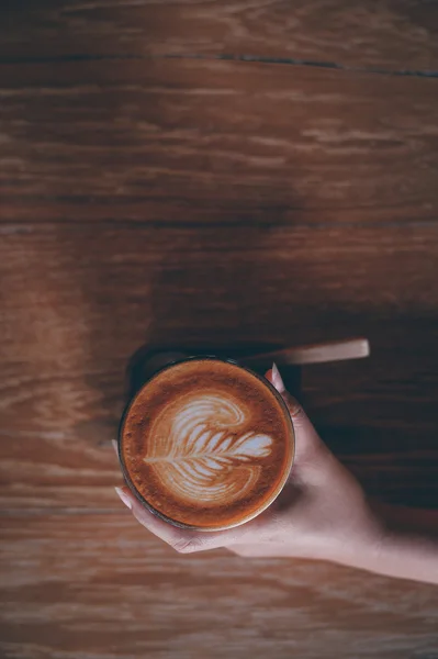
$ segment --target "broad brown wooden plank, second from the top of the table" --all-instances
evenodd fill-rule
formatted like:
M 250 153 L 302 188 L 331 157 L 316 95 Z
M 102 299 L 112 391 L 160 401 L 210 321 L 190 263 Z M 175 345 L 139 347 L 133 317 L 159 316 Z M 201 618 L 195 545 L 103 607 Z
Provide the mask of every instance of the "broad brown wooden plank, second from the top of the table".
M 435 222 L 438 83 L 306 67 L 1 68 L 0 219 Z

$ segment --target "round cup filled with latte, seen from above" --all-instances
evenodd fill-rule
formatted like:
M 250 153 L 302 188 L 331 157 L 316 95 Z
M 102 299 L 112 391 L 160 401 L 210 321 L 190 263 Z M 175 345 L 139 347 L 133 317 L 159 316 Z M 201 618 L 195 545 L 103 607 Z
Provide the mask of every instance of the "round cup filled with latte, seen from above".
M 162 366 L 127 404 L 119 429 L 126 484 L 181 528 L 222 530 L 262 513 L 294 459 L 291 415 L 266 378 L 231 359 Z

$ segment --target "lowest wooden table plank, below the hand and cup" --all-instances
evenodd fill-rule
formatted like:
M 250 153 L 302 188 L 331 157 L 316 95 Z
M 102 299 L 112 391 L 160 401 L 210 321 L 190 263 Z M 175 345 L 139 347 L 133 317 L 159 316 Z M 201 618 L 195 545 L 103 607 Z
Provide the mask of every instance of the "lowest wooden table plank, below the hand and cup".
M 127 512 L 5 517 L 0 557 L 5 659 L 438 654 L 434 587 L 225 550 L 181 557 Z

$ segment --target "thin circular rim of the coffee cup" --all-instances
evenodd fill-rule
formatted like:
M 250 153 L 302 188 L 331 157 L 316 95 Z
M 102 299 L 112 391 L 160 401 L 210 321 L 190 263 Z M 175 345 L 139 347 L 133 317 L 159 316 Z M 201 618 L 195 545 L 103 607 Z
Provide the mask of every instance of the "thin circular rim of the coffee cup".
M 246 515 L 244 518 L 239 520 L 238 522 L 235 522 L 233 524 L 225 524 L 223 526 L 195 526 L 192 524 L 186 524 L 184 522 L 179 522 L 178 520 L 173 520 L 172 517 L 169 517 L 167 515 L 165 515 L 164 513 L 161 513 L 160 511 L 158 511 L 157 509 L 155 509 L 144 496 L 143 494 L 137 490 L 137 488 L 134 485 L 134 483 L 131 480 L 130 477 L 130 472 L 127 470 L 127 467 L 125 465 L 125 460 L 123 458 L 123 451 L 122 451 L 122 438 L 123 438 L 123 427 L 124 427 L 124 423 L 127 418 L 127 415 L 131 411 L 132 405 L 134 404 L 134 402 L 136 401 L 137 396 L 142 393 L 142 391 L 148 387 L 148 384 L 158 376 L 160 376 L 162 372 L 173 368 L 175 366 L 178 366 L 180 364 L 186 364 L 187 361 L 221 361 L 221 362 L 225 362 L 225 364 L 232 364 L 233 366 L 236 366 L 237 368 L 240 368 L 247 372 L 249 372 L 250 375 L 255 376 L 260 382 L 262 382 L 269 390 L 271 393 L 273 393 L 274 398 L 277 399 L 277 401 L 280 404 L 280 407 L 283 411 L 284 417 L 287 420 L 288 426 L 289 426 L 289 443 L 292 445 L 291 447 L 291 451 L 290 451 L 290 457 L 288 460 L 288 467 L 287 469 L 284 469 L 284 473 L 282 476 L 282 478 L 279 481 L 278 487 L 272 491 L 271 495 L 265 501 L 263 505 L 261 505 L 260 507 L 258 507 L 256 511 L 252 511 L 251 513 L 249 513 L 248 515 Z M 295 435 L 295 428 L 293 425 L 293 420 L 291 416 L 291 413 L 289 411 L 288 405 L 285 404 L 282 395 L 277 391 L 277 389 L 273 387 L 273 384 L 271 384 L 271 382 L 269 382 L 269 380 L 267 380 L 263 376 L 257 373 L 256 371 L 254 371 L 251 368 L 248 368 L 247 366 L 243 366 L 242 364 L 238 364 L 238 361 L 236 359 L 232 359 L 232 358 L 222 358 L 222 357 L 216 357 L 215 355 L 191 355 L 188 357 L 184 357 L 183 359 L 178 359 L 175 361 L 170 361 L 169 364 L 166 364 L 165 366 L 162 366 L 161 368 L 159 368 L 158 370 L 156 370 L 153 376 L 150 376 L 150 378 L 148 380 L 146 380 L 146 382 L 144 382 L 142 384 L 142 387 L 139 387 L 139 389 L 135 392 L 135 394 L 132 396 L 132 399 L 127 402 L 127 404 L 125 405 L 125 409 L 123 410 L 122 413 L 122 417 L 120 420 L 119 423 L 119 431 L 117 431 L 117 456 L 119 456 L 119 462 L 121 465 L 121 469 L 122 469 L 122 473 L 123 473 L 123 478 L 125 480 L 126 485 L 130 488 L 131 492 L 134 494 L 134 496 L 139 501 L 139 503 L 142 505 L 144 505 L 150 513 L 153 513 L 156 517 L 158 517 L 159 520 L 162 520 L 164 522 L 167 522 L 168 524 L 170 524 L 171 526 L 176 526 L 178 528 L 182 528 L 182 529 L 187 529 L 187 530 L 200 530 L 200 532 L 205 532 L 205 533 L 214 533 L 216 530 L 227 530 L 228 528 L 235 528 L 236 526 L 242 526 L 243 524 L 246 524 L 247 522 L 250 522 L 251 520 L 254 520 L 255 517 L 258 517 L 262 512 L 265 512 L 274 501 L 280 495 L 280 493 L 282 492 L 289 477 L 290 473 L 292 471 L 292 467 L 294 465 L 295 461 L 295 444 L 296 444 L 296 435 Z

